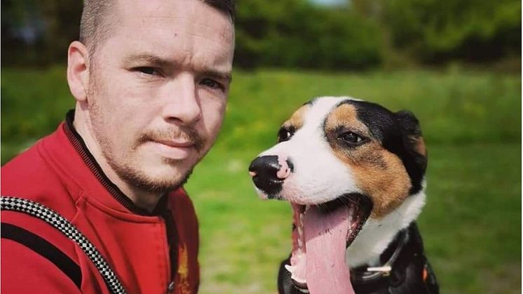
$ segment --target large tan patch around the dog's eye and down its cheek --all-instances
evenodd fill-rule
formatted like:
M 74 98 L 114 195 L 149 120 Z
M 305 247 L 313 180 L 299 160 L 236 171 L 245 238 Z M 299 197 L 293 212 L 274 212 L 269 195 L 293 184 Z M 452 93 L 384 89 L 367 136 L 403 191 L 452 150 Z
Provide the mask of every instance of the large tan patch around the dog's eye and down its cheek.
M 336 133 L 340 126 L 344 131 L 365 135 L 370 142 L 351 149 L 340 145 L 339 133 Z M 340 105 L 334 109 L 327 117 L 325 133 L 334 155 L 346 163 L 356 185 L 372 199 L 372 218 L 390 213 L 409 196 L 412 184 L 401 159 L 372 138 L 367 126 L 358 120 L 353 105 Z

